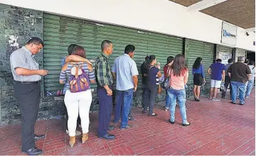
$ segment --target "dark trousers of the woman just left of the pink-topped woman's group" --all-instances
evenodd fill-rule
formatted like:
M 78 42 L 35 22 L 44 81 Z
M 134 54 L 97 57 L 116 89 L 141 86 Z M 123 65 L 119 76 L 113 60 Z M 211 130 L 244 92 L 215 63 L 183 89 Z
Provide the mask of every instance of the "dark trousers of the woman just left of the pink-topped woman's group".
M 147 86 L 146 87 L 146 91 L 148 94 L 148 99 L 147 102 L 144 105 L 144 111 L 146 111 L 146 108 L 148 108 L 149 106 L 149 115 L 151 115 L 153 113 L 153 108 L 154 108 L 154 103 L 156 101 L 156 95 L 157 95 L 157 91 L 158 91 L 158 85 L 154 85 L 154 86 Z

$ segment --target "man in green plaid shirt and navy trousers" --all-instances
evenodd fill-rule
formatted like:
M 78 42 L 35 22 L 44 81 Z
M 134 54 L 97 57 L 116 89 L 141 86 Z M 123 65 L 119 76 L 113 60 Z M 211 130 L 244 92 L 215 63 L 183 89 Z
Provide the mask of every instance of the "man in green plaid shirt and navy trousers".
M 109 126 L 112 113 L 112 84 L 113 77 L 110 69 L 109 58 L 113 52 L 110 40 L 103 40 L 101 44 L 102 53 L 95 60 L 95 74 L 97 82 L 97 95 L 99 97 L 99 126 L 97 135 L 99 138 L 114 139 L 107 130 L 113 130 Z

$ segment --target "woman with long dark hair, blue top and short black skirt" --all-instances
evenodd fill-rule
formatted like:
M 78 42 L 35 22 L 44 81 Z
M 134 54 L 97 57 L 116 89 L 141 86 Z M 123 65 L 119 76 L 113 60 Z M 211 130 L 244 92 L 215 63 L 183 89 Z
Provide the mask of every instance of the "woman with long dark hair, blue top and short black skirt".
M 206 84 L 203 65 L 201 64 L 202 60 L 203 59 L 201 57 L 197 57 L 194 64 L 193 64 L 193 69 L 192 69 L 193 94 L 194 94 L 195 101 L 200 101 L 199 100 L 200 88 L 203 84 Z

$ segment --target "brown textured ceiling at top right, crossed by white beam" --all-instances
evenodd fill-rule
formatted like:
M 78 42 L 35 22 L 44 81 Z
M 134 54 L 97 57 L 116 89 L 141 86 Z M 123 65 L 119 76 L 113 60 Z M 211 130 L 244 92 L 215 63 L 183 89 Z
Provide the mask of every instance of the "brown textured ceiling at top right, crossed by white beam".
M 201 0 L 170 0 L 183 6 L 191 6 Z M 201 10 L 215 18 L 241 28 L 255 28 L 255 0 L 228 0 Z

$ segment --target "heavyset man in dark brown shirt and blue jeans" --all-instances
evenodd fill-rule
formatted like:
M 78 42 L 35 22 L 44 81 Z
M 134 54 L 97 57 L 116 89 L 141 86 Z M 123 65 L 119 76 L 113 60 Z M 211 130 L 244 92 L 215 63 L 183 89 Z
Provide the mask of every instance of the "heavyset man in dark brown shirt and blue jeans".
M 233 63 L 228 68 L 228 74 L 231 77 L 231 85 L 232 85 L 232 97 L 231 103 L 235 104 L 236 95 L 238 94 L 239 89 L 239 100 L 240 105 L 245 104 L 245 91 L 246 91 L 246 82 L 251 77 L 251 71 L 248 65 L 242 63 L 242 57 L 238 57 L 238 62 Z

